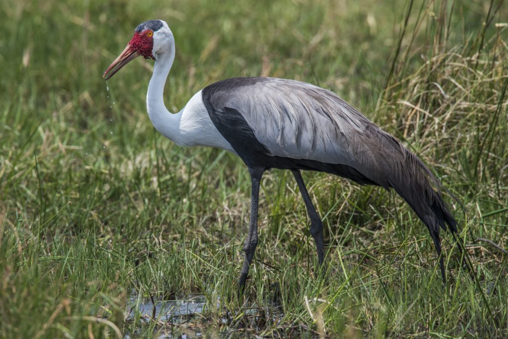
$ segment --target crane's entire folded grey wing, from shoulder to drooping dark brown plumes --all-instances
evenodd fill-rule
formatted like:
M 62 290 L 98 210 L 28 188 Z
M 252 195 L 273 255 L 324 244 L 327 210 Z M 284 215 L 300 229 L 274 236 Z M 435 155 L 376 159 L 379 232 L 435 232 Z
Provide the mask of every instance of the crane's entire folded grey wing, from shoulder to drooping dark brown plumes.
M 395 138 L 329 90 L 294 80 L 233 78 L 213 84 L 214 110 L 239 112 L 274 158 L 354 168 L 402 196 L 432 232 L 456 222 L 425 165 Z M 347 175 L 344 175 L 347 177 Z M 437 233 L 436 236 L 438 237 Z

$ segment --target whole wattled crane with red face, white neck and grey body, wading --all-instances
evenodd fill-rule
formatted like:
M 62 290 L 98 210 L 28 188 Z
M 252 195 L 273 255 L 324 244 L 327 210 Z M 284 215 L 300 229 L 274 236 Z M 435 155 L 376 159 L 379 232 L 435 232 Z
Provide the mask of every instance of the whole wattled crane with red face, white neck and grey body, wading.
M 450 230 L 455 237 L 457 222 L 429 182 L 439 184 L 437 179 L 417 156 L 353 106 L 309 83 L 248 77 L 215 82 L 173 114 L 163 99 L 164 84 L 175 59 L 175 40 L 165 21 L 138 25 L 129 44 L 104 72 L 104 78 L 109 79 L 138 56 L 155 60 L 146 96 L 148 116 L 155 129 L 178 145 L 226 149 L 238 155 L 249 169 L 250 222 L 240 287 L 245 284 L 258 244 L 261 177 L 271 168 L 292 171 L 310 217 L 310 233 L 320 264 L 324 261 L 323 223 L 300 170 L 393 188 L 427 226 L 446 282 L 439 228 Z

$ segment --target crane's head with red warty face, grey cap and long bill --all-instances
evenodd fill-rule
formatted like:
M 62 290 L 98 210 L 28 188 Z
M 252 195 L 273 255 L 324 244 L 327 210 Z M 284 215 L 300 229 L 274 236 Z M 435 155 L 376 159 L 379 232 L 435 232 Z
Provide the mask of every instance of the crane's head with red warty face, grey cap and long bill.
M 168 24 L 163 20 L 149 20 L 140 23 L 134 31 L 134 36 L 127 44 L 123 52 L 109 65 L 104 72 L 103 78 L 108 80 L 123 66 L 138 56 L 145 59 L 157 59 L 157 53 L 164 50 L 164 42 L 173 43 L 173 34 Z M 167 43 L 166 43 L 167 45 Z

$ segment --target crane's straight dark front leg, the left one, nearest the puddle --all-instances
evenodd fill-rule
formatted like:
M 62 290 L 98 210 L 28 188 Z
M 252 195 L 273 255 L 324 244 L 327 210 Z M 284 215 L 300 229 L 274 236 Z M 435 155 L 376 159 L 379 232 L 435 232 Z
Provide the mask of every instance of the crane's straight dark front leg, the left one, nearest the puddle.
M 245 244 L 243 245 L 243 251 L 245 252 L 245 260 L 243 261 L 242 271 L 240 279 L 238 281 L 239 292 L 243 292 L 245 281 L 247 280 L 247 274 L 249 272 L 249 266 L 252 262 L 252 257 L 256 251 L 258 245 L 258 202 L 259 202 L 259 188 L 261 177 L 263 176 L 264 168 L 249 168 L 250 179 L 252 181 L 251 196 L 250 196 L 250 222 L 249 231 Z

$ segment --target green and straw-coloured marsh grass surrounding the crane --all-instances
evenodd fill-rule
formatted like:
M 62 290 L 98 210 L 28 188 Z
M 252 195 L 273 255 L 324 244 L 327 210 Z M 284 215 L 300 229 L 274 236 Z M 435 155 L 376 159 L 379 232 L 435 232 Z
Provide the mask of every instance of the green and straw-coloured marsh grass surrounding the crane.
M 305 173 L 328 244 L 329 270 L 317 274 L 296 183 L 274 170 L 238 300 L 245 166 L 156 133 L 145 108 L 151 61 L 122 69 L 109 91 L 101 77 L 152 18 L 176 39 L 171 111 L 223 78 L 292 78 L 335 91 L 402 140 L 464 204 L 448 196 L 479 286 L 443 234 L 443 288 L 427 230 L 393 192 Z M 188 324 L 140 325 L 136 309 L 127 320 L 129 298 L 187 293 L 209 301 L 197 326 L 210 337 L 508 336 L 507 255 L 477 240 L 508 247 L 506 18 L 500 0 L 7 0 L 0 337 L 177 336 Z

